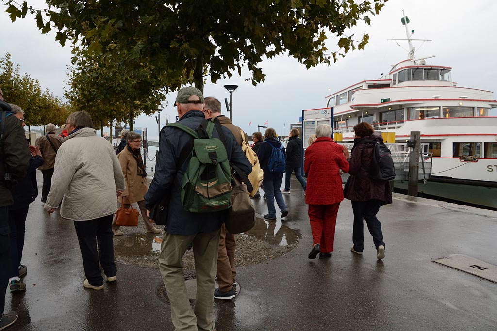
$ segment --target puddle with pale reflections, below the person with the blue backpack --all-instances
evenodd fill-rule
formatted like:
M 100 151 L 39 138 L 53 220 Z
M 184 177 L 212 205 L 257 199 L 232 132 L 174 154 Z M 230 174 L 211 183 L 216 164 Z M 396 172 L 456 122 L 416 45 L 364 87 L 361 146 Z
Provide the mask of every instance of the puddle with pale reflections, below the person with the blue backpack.
M 279 246 L 296 244 L 300 238 L 300 232 L 282 225 L 281 222 L 268 222 L 262 218 L 255 218 L 254 227 L 243 235 Z

